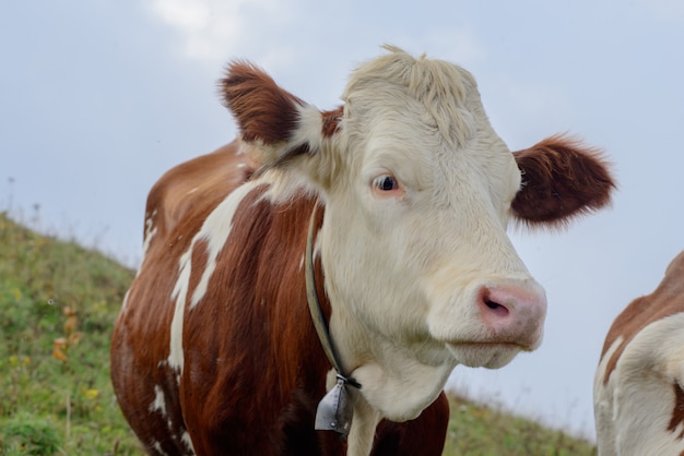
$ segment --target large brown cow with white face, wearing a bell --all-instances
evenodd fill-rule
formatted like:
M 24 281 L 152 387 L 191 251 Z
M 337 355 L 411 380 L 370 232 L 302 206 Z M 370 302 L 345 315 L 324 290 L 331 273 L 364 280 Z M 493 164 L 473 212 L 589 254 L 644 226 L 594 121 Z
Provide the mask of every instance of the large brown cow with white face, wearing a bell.
M 439 455 L 452 369 L 539 346 L 546 299 L 506 227 L 604 206 L 605 164 L 562 136 L 511 154 L 470 73 L 388 51 L 322 112 L 233 63 L 241 139 L 152 189 L 111 345 L 150 454 Z M 314 212 L 317 295 L 361 385 L 346 442 L 314 430 L 334 384 L 306 299 Z

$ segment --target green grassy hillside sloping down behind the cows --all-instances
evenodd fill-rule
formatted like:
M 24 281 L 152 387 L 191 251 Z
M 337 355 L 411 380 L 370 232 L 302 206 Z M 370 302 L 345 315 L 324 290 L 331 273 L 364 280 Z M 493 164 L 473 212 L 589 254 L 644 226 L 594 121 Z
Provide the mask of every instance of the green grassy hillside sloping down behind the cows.
M 109 383 L 133 272 L 0 213 L 0 455 L 142 455 Z M 452 398 L 445 455 L 593 455 L 586 442 Z

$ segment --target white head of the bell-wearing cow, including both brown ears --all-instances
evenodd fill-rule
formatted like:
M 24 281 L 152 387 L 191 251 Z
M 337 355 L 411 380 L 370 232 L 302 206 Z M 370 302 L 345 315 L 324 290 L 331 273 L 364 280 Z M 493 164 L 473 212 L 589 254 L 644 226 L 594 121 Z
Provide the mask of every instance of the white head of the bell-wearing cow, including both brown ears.
M 562 136 L 511 154 L 470 73 L 388 49 L 352 74 L 338 110 L 245 62 L 222 91 L 273 197 L 305 188 L 325 202 L 334 344 L 368 404 L 404 420 L 456 364 L 499 368 L 539 346 L 546 300 L 510 218 L 562 225 L 605 205 L 614 184 L 593 151 Z

